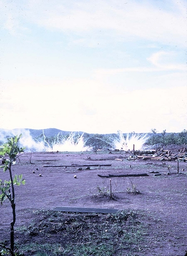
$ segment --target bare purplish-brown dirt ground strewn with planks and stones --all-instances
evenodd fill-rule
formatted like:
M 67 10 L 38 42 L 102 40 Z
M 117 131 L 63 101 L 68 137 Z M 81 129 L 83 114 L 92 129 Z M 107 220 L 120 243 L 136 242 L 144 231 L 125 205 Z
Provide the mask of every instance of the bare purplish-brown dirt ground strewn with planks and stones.
M 84 208 L 136 209 L 146 212 L 149 228 L 147 237 L 150 256 L 184 256 L 187 250 L 187 163 L 179 162 L 179 174 L 175 161 L 128 161 L 125 152 L 112 153 L 24 153 L 13 166 L 14 174 L 23 174 L 26 185 L 15 188 L 17 220 L 15 227 L 29 224 L 33 216 L 28 209 L 53 209 L 56 206 Z M 122 161 L 120 161 L 120 160 Z M 100 165 L 80 167 L 76 165 Z M 111 166 L 102 166 L 102 165 Z M 58 167 L 56 167 L 58 165 Z M 60 165 L 70 165 L 61 167 Z M 49 166 L 49 167 L 45 167 Z M 184 169 L 184 170 L 183 170 Z M 33 171 L 35 173 L 33 173 Z M 151 172 L 158 171 L 161 176 Z M 112 177 L 115 200 L 99 197 L 99 188 L 109 187 L 108 178 L 97 174 L 148 174 L 146 177 Z M 41 174 L 41 177 L 39 176 Z M 74 178 L 76 175 L 77 178 Z M 8 173 L 0 170 L 0 179 L 8 179 Z M 140 194 L 128 194 L 126 189 L 136 185 Z M 0 240 L 8 239 L 11 222 L 9 202 L 0 206 Z M 151 248 L 151 251 L 150 251 Z M 141 253 L 139 254 L 141 255 Z M 144 254 L 143 254 L 144 255 Z

